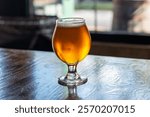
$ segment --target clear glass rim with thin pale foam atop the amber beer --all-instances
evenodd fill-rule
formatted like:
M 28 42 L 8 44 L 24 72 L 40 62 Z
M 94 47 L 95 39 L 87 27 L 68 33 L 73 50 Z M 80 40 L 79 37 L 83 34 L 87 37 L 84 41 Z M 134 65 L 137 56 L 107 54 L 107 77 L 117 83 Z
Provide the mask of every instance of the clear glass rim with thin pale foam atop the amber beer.
M 58 26 L 62 27 L 78 27 L 85 24 L 85 20 L 83 18 L 60 18 L 57 21 Z

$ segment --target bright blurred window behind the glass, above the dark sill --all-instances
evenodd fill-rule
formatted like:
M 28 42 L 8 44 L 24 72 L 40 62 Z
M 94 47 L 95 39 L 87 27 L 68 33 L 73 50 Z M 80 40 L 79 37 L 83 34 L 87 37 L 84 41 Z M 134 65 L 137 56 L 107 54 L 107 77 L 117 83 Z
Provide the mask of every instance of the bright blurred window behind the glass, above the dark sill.
M 148 0 L 34 0 L 38 15 L 83 17 L 90 31 L 150 33 Z

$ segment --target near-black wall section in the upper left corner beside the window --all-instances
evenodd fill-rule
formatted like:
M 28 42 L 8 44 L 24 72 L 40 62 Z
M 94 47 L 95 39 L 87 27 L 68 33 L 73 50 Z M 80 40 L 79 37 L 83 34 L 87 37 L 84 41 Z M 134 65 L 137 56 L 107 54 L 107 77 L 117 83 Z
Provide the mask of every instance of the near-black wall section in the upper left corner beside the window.
M 29 16 L 32 0 L 0 0 L 0 16 Z

